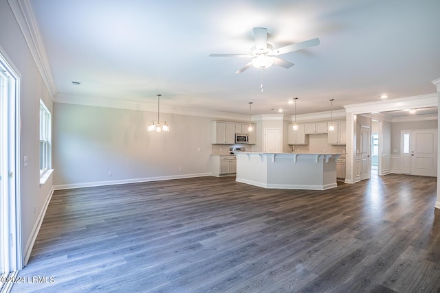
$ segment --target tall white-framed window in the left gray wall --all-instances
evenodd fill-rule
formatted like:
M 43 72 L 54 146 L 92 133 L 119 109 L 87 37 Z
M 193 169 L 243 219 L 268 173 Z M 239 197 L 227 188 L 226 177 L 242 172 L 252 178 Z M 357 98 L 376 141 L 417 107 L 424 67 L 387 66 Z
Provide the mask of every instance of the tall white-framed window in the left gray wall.
M 50 112 L 40 100 L 40 176 L 50 168 Z

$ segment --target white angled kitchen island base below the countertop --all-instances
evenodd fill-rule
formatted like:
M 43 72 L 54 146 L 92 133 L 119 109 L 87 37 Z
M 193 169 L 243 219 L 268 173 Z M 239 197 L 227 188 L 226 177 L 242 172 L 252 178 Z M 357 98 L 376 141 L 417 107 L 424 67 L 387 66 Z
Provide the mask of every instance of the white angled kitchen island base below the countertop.
M 341 154 L 236 152 L 236 181 L 264 188 L 325 190 L 337 187 Z

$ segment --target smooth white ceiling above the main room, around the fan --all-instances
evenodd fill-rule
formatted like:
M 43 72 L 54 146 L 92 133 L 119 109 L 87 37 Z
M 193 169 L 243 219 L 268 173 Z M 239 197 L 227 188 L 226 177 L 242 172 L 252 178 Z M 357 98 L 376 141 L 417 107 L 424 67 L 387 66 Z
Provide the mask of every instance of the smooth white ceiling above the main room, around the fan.
M 435 93 L 439 0 L 146 1 L 30 0 L 57 98 L 111 99 L 249 114 L 297 113 Z M 274 48 L 320 38 L 272 66 L 234 73 L 253 27 Z M 81 82 L 80 86 L 72 81 Z M 153 106 L 154 105 L 154 106 Z M 379 109 L 378 109 L 379 110 Z M 437 112 L 437 109 L 435 109 Z

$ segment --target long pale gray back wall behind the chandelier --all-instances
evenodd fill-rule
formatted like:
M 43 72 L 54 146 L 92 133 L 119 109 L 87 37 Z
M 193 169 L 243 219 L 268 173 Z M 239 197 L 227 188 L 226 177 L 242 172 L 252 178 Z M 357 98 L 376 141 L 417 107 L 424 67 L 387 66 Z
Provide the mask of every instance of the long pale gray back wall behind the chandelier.
M 57 187 L 210 173 L 212 119 L 161 113 L 170 132 L 147 132 L 157 113 L 62 103 L 54 113 Z

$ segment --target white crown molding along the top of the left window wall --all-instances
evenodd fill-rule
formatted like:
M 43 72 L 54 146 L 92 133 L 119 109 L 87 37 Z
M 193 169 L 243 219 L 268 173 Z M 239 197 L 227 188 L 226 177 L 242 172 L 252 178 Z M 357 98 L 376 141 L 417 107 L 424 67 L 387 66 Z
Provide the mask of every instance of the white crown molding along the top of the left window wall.
M 39 26 L 32 10 L 32 4 L 30 0 L 8 0 L 8 3 L 25 38 L 25 42 L 28 44 L 36 67 L 40 71 L 47 91 L 53 100 L 57 91 L 56 85 L 52 77 L 49 61 L 47 60 L 43 38 L 41 38 Z

